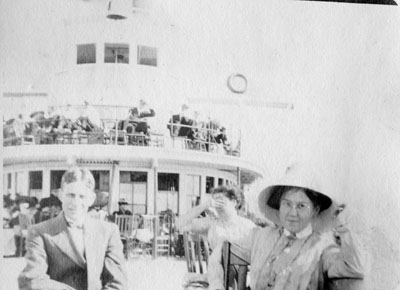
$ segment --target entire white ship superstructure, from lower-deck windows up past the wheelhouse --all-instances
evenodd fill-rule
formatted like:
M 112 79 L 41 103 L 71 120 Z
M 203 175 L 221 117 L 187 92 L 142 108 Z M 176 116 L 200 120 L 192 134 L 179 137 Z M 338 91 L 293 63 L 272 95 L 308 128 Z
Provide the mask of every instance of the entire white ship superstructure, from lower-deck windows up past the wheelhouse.
M 18 108 L 3 125 L 5 195 L 57 195 L 77 164 L 109 193 L 110 214 L 124 199 L 134 214 L 179 215 L 212 188 L 261 177 L 241 156 L 235 120 L 177 94 L 184 89 L 169 73 L 173 48 L 163 49 L 157 28 L 145 33 L 146 17 L 67 19 L 43 91 L 3 94 Z

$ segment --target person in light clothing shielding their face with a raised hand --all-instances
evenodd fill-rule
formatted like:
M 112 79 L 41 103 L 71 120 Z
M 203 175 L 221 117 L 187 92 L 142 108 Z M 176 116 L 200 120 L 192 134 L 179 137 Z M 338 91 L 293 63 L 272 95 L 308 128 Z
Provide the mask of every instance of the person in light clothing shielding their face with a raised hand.
M 243 195 L 236 187 L 220 186 L 211 198 L 179 217 L 176 227 L 179 230 L 203 234 L 212 249 L 208 264 L 209 289 L 224 289 L 222 268 L 222 245 L 224 241 L 248 236 L 254 223 L 240 217 L 237 210 L 243 202 Z M 199 216 L 209 211 L 208 217 Z

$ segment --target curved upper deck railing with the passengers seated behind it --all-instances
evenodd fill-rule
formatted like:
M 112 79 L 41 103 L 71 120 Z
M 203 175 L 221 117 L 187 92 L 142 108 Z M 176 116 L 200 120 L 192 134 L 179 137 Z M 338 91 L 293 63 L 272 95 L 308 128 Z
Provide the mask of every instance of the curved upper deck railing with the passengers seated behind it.
M 171 117 L 165 123 L 169 134 L 163 134 L 152 131 L 146 118 L 121 117 L 130 107 L 95 107 L 99 113 L 98 120 L 94 120 L 97 116 L 84 113 L 84 106 L 75 106 L 73 109 L 76 112 L 69 113 L 61 113 L 58 111 L 61 107 L 57 107 L 51 117 L 36 116 L 28 122 L 9 120 L 3 125 L 3 145 L 143 146 L 240 156 L 240 140 L 235 145 L 229 144 L 225 133 L 216 123 L 193 122 L 186 125 L 175 122 Z

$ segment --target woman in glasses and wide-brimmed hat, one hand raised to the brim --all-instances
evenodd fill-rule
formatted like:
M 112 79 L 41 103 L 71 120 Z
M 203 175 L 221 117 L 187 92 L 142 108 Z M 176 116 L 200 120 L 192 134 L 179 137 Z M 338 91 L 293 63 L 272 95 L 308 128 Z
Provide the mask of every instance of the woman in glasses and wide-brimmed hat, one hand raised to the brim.
M 361 247 L 310 172 L 288 170 L 261 191 L 259 207 L 276 226 L 257 228 L 238 243 L 251 257 L 252 290 L 317 290 L 326 289 L 327 277 L 363 278 Z

